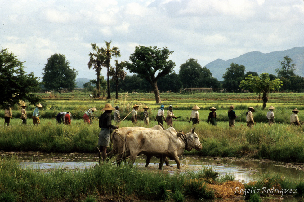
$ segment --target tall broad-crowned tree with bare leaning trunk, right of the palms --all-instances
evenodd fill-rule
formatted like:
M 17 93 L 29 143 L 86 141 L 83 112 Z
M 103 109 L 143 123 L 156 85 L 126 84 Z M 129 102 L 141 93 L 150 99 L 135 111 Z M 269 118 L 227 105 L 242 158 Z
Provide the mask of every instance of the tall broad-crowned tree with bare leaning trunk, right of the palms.
M 156 103 L 161 103 L 157 80 L 171 72 L 175 67 L 172 60 L 168 60 L 169 51 L 167 47 L 160 49 L 156 46 L 136 46 L 134 53 L 130 55 L 131 63 L 127 62 L 127 69 L 131 73 L 139 74 L 145 78 L 153 88 Z M 157 75 L 155 76 L 157 72 Z

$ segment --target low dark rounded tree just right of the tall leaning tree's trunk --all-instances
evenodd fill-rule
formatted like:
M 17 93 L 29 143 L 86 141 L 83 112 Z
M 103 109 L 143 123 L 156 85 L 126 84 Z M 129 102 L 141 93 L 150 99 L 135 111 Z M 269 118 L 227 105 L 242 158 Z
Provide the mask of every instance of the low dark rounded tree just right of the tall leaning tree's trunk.
M 183 84 L 176 73 L 167 74 L 164 77 L 160 77 L 158 81 L 159 90 L 179 92 L 183 87 Z

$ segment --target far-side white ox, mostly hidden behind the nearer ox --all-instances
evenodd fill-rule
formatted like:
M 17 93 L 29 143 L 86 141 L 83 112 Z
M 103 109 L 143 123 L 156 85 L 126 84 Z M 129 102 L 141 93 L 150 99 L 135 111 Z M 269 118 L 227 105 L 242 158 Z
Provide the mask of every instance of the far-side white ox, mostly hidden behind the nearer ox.
M 124 137 L 127 132 L 134 130 L 163 130 L 160 125 L 154 125 L 152 128 L 145 127 L 122 127 L 113 131 L 111 135 L 111 142 L 113 145 L 112 150 L 107 154 L 108 159 L 111 159 L 115 154 L 118 154 L 116 158 L 116 162 L 120 162 L 122 153 L 123 153 L 123 145 L 124 145 Z M 152 156 L 147 156 L 146 167 L 149 165 Z M 119 164 L 119 163 L 118 163 Z M 166 159 L 166 165 L 169 165 L 168 159 Z

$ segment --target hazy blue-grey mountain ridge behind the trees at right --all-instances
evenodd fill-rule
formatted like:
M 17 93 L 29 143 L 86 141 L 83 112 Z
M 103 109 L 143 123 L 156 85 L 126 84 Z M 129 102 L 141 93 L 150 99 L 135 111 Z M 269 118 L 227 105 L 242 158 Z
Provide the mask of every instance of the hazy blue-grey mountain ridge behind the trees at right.
M 212 76 L 219 81 L 223 80 L 223 74 L 231 63 L 244 65 L 246 72 L 252 71 L 257 72 L 258 74 L 269 73 L 277 75 L 275 69 L 282 67 L 279 60 L 283 61 L 284 56 L 286 55 L 288 55 L 293 60 L 293 63 L 296 64 L 296 75 L 304 77 L 304 47 L 294 47 L 285 51 L 274 51 L 270 53 L 261 53 L 259 51 L 248 52 L 237 58 L 226 61 L 216 59 L 208 63 L 206 67 L 210 69 Z

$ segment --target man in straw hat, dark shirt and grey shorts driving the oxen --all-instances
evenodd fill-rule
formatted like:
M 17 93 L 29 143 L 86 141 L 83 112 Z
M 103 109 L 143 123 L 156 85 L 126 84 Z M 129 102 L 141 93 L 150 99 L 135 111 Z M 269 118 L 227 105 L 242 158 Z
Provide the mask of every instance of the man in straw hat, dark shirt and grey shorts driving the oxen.
M 105 111 L 99 117 L 99 128 L 101 128 L 98 138 L 99 150 L 102 153 L 102 162 L 105 162 L 107 158 L 107 147 L 109 147 L 110 142 L 110 129 L 119 128 L 118 125 L 112 125 L 111 123 L 111 113 L 113 111 L 111 104 L 105 104 L 105 107 L 101 111 Z M 98 154 L 99 164 L 101 164 L 101 156 Z

